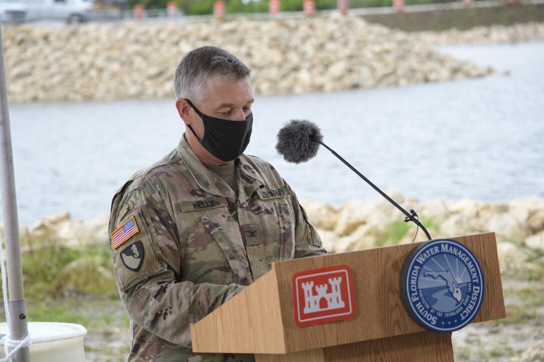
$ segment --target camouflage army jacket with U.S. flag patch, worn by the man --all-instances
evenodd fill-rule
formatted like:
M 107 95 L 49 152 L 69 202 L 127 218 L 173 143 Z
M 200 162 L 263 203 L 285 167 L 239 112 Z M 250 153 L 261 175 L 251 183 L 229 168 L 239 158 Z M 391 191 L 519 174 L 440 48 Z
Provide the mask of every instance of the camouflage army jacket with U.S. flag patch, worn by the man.
M 131 320 L 132 361 L 253 361 L 193 353 L 195 323 L 278 260 L 325 254 L 316 229 L 273 166 L 242 155 L 239 195 L 184 136 L 135 173 L 112 201 L 109 232 L 119 294 Z

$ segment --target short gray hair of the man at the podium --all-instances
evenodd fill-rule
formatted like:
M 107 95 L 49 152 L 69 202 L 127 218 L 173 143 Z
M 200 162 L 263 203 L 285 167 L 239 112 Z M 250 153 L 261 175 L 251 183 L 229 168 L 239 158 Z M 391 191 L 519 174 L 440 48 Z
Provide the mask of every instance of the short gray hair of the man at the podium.
M 251 69 L 231 53 L 214 46 L 203 46 L 187 53 L 174 75 L 176 98 L 187 98 L 195 105 L 206 99 L 206 80 L 210 77 L 247 79 Z

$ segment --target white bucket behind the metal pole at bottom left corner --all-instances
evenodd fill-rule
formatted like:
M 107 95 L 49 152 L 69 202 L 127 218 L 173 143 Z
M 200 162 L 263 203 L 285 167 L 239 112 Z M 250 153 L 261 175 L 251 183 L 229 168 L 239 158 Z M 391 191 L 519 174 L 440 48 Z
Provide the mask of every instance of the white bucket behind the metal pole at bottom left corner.
M 85 327 L 74 323 L 28 322 L 28 332 L 32 339 L 30 360 L 40 362 L 85 360 L 83 338 Z M 8 324 L 0 323 L 0 334 L 8 333 Z M 0 358 L 5 357 L 4 339 L 0 340 Z

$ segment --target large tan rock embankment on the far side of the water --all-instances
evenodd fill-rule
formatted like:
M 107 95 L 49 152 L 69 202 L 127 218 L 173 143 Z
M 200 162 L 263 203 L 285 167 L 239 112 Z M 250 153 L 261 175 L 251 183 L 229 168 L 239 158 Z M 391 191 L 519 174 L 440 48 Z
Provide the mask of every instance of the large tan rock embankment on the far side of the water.
M 525 40 L 537 29 L 544 39 L 541 24 L 524 27 L 482 36 L 484 41 Z M 264 95 L 440 82 L 492 72 L 434 49 L 436 43 L 466 39 L 464 33 L 438 39 L 357 16 L 60 28 L 23 24 L 4 27 L 2 33 L 11 102 L 171 97 L 178 62 L 202 45 L 238 55 L 253 69 L 255 92 Z

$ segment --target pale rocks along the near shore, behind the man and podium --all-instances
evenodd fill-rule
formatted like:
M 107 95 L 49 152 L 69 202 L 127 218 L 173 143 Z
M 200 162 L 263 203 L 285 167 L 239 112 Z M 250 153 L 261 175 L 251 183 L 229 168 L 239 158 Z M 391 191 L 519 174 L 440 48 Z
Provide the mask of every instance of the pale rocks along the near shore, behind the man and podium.
M 387 192 L 405 209 L 415 209 L 433 239 L 494 232 L 501 271 L 524 272 L 544 267 L 544 199 L 516 198 L 510 203 L 436 199 L 418 202 L 398 191 Z M 385 199 L 353 200 L 339 208 L 317 201 L 303 202 L 329 252 L 406 244 L 415 236 L 415 225 Z M 33 240 L 60 240 L 71 247 L 104 245 L 109 237 L 108 215 L 95 220 L 71 220 L 69 213 L 44 217 L 20 230 L 23 251 Z M 416 241 L 426 240 L 419 230 Z M 535 259 L 536 255 L 536 259 Z

